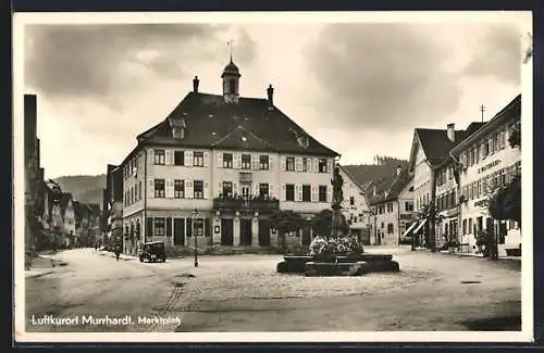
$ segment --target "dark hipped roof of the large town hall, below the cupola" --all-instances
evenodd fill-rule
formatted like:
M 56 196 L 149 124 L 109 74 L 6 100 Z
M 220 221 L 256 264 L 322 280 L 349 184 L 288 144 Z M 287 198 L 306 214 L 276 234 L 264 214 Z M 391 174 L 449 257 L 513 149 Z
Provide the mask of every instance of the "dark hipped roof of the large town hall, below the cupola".
M 183 139 L 171 126 L 185 124 Z M 299 137 L 308 143 L 299 143 Z M 222 96 L 189 92 L 161 123 L 138 136 L 141 144 L 267 150 L 299 154 L 337 155 L 308 135 L 265 99 L 239 98 L 225 104 Z

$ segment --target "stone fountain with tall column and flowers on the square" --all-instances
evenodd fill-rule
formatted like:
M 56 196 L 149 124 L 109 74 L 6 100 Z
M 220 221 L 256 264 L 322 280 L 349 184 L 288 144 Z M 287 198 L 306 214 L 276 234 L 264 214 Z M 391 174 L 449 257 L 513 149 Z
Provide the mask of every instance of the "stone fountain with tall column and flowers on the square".
M 342 187 L 339 166 L 334 168 L 331 234 L 317 236 L 307 255 L 285 255 L 277 264 L 279 273 L 306 276 L 361 276 L 371 272 L 399 272 L 398 262 L 391 254 L 364 254 L 357 237 L 339 230 L 342 222 Z

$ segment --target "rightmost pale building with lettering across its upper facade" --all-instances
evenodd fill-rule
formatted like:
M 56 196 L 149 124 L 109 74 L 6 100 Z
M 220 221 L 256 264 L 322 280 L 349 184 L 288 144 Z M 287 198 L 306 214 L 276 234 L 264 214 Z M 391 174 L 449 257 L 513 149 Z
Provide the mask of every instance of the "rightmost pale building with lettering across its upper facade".
M 520 225 L 514 220 L 490 217 L 481 201 L 521 174 L 521 150 L 508 143 L 521 119 L 521 96 L 514 99 L 490 122 L 452 150 L 460 162 L 460 241 L 478 252 L 478 235 L 493 230 L 499 254 L 521 244 Z

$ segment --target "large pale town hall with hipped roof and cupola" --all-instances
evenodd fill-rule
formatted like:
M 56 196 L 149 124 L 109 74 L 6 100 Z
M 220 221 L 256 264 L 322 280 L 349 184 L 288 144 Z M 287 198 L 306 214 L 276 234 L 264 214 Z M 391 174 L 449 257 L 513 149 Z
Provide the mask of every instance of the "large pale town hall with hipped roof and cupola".
M 176 247 L 276 247 L 267 217 L 292 210 L 311 218 L 330 209 L 338 153 L 324 147 L 268 99 L 239 96 L 231 62 L 222 94 L 194 90 L 137 137 L 121 164 L 123 226 L 145 241 Z M 311 241 L 311 229 L 300 234 Z

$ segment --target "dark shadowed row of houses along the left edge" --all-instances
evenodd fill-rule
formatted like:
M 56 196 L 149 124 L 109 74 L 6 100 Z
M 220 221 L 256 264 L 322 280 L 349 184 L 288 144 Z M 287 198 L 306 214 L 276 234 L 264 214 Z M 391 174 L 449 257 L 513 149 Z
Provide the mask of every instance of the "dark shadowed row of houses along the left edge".
M 90 245 L 100 235 L 100 205 L 75 201 L 53 180 L 46 180 L 37 138 L 37 96 L 24 96 L 25 249 Z

